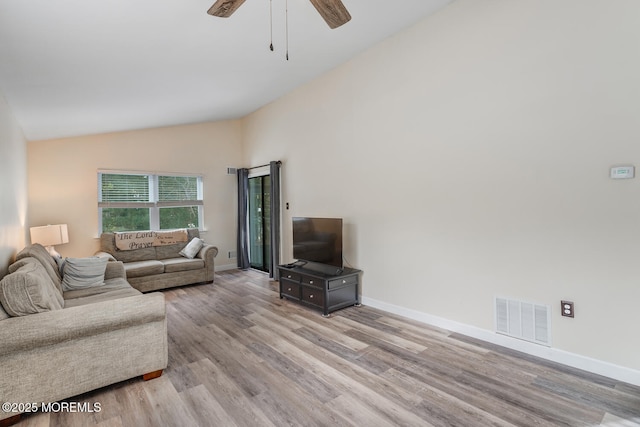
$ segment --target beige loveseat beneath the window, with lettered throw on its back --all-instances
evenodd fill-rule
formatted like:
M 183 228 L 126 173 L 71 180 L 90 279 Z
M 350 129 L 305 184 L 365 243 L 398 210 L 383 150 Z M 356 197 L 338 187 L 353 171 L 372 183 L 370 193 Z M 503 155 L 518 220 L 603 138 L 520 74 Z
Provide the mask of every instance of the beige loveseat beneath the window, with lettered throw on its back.
M 166 246 L 120 250 L 115 233 L 102 233 L 100 251 L 105 256 L 124 263 L 127 280 L 140 292 L 149 292 L 194 283 L 213 283 L 214 258 L 218 248 L 204 244 L 194 258 L 180 251 L 194 238 L 200 238 L 197 228 L 187 229 L 188 241 Z

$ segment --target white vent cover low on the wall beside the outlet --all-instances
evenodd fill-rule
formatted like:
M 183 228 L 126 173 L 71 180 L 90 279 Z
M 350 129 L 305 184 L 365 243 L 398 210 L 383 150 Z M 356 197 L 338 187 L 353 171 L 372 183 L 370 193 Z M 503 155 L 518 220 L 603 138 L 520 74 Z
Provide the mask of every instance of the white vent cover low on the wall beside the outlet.
M 496 332 L 536 344 L 551 345 L 551 307 L 496 297 Z

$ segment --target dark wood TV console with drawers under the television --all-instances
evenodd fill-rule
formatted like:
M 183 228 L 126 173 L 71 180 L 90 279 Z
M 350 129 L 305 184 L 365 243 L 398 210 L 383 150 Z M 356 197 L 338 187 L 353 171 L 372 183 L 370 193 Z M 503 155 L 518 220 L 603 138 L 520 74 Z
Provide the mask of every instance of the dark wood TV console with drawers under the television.
M 322 315 L 351 305 L 360 305 L 358 284 L 361 270 L 344 268 L 339 274 L 325 274 L 302 267 L 278 266 L 280 298 L 322 310 Z

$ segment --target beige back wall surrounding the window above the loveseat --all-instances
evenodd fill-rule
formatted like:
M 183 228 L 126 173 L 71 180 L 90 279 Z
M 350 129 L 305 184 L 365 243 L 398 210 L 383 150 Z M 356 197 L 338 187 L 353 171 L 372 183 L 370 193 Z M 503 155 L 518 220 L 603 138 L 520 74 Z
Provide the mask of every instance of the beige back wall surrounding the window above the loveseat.
M 235 259 L 236 180 L 241 162 L 240 122 L 227 121 L 28 143 L 29 223 L 66 223 L 63 256 L 98 249 L 97 171 L 116 169 L 204 175 L 202 237 L 216 245 L 216 269 Z

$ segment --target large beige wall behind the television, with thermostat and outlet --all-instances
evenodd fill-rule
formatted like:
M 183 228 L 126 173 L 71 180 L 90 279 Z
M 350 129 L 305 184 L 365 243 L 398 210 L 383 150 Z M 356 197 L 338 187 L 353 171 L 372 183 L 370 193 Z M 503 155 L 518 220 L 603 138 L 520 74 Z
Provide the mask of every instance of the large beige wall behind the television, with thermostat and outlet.
M 640 2 L 458 0 L 245 119 L 292 216 L 345 220 L 370 301 L 493 330 L 549 304 L 553 348 L 640 370 Z M 561 299 L 576 304 L 561 318 Z

